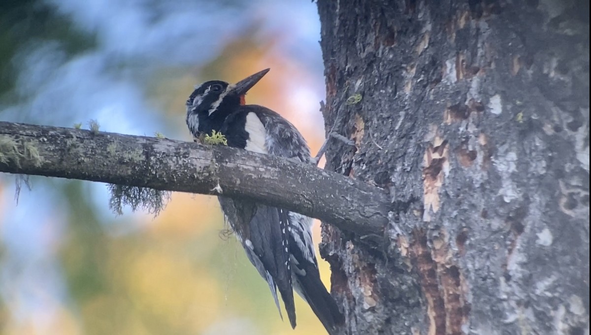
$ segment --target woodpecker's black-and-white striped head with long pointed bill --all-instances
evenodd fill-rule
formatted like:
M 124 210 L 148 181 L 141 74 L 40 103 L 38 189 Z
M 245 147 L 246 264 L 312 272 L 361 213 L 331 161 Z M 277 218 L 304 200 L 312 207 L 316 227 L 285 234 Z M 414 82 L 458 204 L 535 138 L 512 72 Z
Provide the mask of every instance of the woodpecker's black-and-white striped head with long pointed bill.
M 259 71 L 236 84 L 211 80 L 196 86 L 187 99 L 187 126 L 193 136 L 220 131 L 223 121 L 236 108 L 245 104 L 245 95 L 269 69 Z

